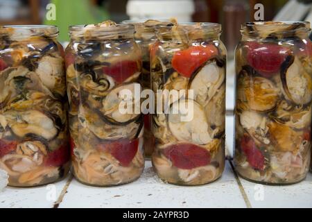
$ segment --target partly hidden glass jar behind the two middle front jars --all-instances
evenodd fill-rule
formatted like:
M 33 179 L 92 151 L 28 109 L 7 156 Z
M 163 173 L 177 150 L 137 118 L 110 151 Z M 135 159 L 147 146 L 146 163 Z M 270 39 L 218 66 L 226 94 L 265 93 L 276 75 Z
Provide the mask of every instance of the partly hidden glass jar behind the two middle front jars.
M 141 21 L 123 21 L 124 24 L 132 24 L 135 26 L 135 40 L 139 44 L 142 51 L 142 74 L 141 85 L 144 89 L 150 89 L 150 48 L 156 42 L 156 26 L 160 24 L 170 24 L 169 22 L 160 22 L 157 20 Z M 148 98 L 147 98 L 148 99 Z M 149 107 L 147 107 L 148 109 Z M 146 110 L 144 114 L 144 154 L 150 159 L 155 149 L 155 137 L 150 129 L 152 116 Z

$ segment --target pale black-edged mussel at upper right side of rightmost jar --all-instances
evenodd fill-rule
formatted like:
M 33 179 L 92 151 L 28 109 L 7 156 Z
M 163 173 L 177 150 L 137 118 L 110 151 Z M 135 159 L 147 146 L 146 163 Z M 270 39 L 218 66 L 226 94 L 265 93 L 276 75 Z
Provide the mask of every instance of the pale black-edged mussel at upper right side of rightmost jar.
M 311 102 L 312 78 L 297 57 L 288 56 L 281 65 L 281 83 L 286 98 L 298 105 Z

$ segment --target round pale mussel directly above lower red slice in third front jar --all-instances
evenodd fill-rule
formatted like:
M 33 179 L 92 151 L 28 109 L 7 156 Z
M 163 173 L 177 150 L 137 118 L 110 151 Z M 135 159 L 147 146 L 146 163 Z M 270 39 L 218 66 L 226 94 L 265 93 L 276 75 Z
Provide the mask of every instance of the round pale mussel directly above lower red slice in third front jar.
M 168 126 L 180 141 L 198 145 L 211 142 L 205 110 L 195 101 L 180 100 L 173 103 L 171 113 L 168 114 Z

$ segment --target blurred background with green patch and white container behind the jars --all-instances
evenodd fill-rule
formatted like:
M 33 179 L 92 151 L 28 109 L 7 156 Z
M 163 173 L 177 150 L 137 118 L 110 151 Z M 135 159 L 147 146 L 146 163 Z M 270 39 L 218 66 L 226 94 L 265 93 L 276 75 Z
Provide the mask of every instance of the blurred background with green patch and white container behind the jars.
M 312 0 L 0 0 L 0 25 L 54 24 L 60 28 L 59 40 L 66 45 L 69 25 L 94 24 L 105 19 L 121 22 L 176 17 L 178 22 L 218 22 L 223 25 L 222 40 L 228 51 L 230 113 L 234 109 L 234 48 L 241 37 L 241 24 L 254 21 L 257 3 L 264 6 L 264 20 L 312 23 Z

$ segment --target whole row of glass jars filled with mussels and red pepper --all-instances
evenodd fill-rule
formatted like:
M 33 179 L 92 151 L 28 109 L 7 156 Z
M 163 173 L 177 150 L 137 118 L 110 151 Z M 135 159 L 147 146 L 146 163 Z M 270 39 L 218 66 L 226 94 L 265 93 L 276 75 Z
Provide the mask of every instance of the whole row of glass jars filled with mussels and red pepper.
M 306 177 L 309 31 L 306 22 L 242 27 L 234 162 L 243 178 L 282 185 Z M 60 180 L 70 157 L 76 179 L 94 186 L 136 180 L 144 157 L 164 182 L 220 178 L 226 79 L 220 33 L 210 23 L 106 21 L 71 26 L 64 52 L 55 26 L 1 27 L 0 168 L 9 185 Z

